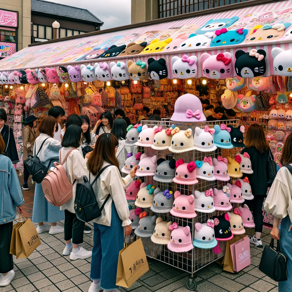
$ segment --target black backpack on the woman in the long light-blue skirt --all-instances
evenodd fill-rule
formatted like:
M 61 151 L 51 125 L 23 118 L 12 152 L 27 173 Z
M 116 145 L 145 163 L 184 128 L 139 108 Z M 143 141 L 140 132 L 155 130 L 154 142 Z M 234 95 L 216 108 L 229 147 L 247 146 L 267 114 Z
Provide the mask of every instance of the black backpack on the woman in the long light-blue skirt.
M 41 150 L 44 143 L 49 138 L 45 139 L 43 143 L 41 144 L 39 150 L 37 151 L 37 154 L 35 156 L 28 155 L 28 159 L 25 160 L 23 163 L 25 164 L 28 172 L 32 175 L 33 180 L 36 183 L 41 183 L 44 179 L 44 177 L 48 174 L 48 167 L 46 165 L 43 165 L 40 163 L 39 158 L 37 157 L 39 151 Z M 35 153 L 36 153 L 36 143 L 35 143 Z

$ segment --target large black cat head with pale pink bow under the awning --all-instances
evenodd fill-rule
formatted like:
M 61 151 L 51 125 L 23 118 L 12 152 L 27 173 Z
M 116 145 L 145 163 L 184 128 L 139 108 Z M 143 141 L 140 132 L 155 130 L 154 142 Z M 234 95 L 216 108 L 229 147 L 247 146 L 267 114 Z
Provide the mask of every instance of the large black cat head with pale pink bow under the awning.
M 266 51 L 252 49 L 249 53 L 237 50 L 235 53 L 235 73 L 244 78 L 256 77 L 266 73 Z

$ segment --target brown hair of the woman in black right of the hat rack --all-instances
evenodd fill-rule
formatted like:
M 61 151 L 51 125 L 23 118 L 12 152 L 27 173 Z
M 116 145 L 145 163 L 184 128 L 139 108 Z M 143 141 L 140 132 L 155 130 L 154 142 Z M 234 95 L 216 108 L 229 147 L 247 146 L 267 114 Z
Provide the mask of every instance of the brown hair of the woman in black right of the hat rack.
M 245 135 L 244 144 L 246 148 L 254 147 L 259 153 L 263 154 L 269 149 L 269 144 L 265 137 L 262 126 L 258 124 L 251 125 Z

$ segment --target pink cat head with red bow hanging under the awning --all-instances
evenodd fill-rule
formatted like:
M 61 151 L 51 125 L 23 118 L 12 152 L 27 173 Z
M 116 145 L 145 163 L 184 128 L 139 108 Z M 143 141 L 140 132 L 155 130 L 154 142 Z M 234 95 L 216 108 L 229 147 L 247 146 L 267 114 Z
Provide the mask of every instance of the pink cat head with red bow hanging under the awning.
M 226 52 L 218 55 L 201 55 L 201 64 L 204 76 L 211 79 L 224 79 L 233 76 L 231 54 Z

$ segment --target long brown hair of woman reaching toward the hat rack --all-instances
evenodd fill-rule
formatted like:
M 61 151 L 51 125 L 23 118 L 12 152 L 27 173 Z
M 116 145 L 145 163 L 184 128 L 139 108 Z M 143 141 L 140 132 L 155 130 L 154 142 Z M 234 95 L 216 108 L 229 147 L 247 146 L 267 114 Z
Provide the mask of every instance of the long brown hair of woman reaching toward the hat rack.
M 119 146 L 119 141 L 114 135 L 110 133 L 100 135 L 87 161 L 88 170 L 93 175 L 97 175 L 104 162 L 119 168 L 119 162 L 115 156 L 115 147 L 117 146 Z

